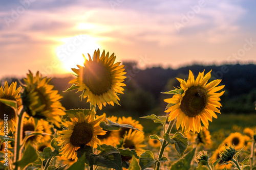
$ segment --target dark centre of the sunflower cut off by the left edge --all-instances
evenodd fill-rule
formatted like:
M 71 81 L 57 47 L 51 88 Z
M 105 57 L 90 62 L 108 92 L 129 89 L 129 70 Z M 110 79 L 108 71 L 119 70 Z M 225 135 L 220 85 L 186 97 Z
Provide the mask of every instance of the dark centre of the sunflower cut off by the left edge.
M 7 99 L 7 100 L 12 100 L 15 101 L 15 98 L 11 95 L 4 95 L 1 99 Z M 7 114 L 8 116 L 8 120 L 16 117 L 15 111 L 13 108 L 11 108 L 10 106 L 7 106 L 6 104 L 0 102 L 0 119 L 4 120 L 4 118 L 6 116 L 4 116 L 5 114 Z

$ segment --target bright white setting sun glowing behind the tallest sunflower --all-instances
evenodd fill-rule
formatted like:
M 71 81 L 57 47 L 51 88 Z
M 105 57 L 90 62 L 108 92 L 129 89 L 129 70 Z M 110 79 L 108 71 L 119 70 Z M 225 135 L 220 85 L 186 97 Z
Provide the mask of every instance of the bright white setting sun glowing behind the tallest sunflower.
M 82 54 L 92 54 L 95 50 L 100 48 L 97 38 L 88 35 L 76 35 L 74 37 L 63 38 L 60 41 L 62 45 L 56 48 L 56 55 L 62 62 L 62 69 L 72 72 L 71 68 L 76 65 L 82 65 L 84 58 Z

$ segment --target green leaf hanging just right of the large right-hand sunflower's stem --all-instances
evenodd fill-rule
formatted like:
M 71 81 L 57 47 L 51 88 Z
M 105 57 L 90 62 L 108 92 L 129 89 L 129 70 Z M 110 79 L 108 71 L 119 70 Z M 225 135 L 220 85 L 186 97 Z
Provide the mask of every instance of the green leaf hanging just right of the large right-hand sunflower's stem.
M 172 138 L 175 141 L 175 149 L 180 155 L 183 156 L 185 150 L 187 149 L 188 140 L 180 132 L 176 132 Z

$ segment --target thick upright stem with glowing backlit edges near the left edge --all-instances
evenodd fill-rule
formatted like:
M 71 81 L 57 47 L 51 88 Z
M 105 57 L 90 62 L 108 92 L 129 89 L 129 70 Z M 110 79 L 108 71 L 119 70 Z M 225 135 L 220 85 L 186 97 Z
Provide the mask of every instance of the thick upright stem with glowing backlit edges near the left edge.
M 22 122 L 24 117 L 25 110 L 23 108 L 20 109 L 20 113 L 17 114 L 17 131 L 15 132 L 15 147 L 14 147 L 14 161 L 17 162 L 21 156 L 22 145 L 20 144 L 20 140 L 22 140 Z M 20 169 L 18 166 L 15 166 L 14 170 Z

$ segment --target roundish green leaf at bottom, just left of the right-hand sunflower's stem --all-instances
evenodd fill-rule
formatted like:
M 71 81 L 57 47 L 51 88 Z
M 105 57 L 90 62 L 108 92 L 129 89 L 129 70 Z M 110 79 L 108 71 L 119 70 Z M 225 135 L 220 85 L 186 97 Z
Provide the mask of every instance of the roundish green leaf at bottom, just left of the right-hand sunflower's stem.
M 154 158 L 154 154 L 151 151 L 146 150 L 143 154 L 140 155 L 140 167 L 141 169 L 145 169 L 147 167 L 151 167 L 156 163 Z

